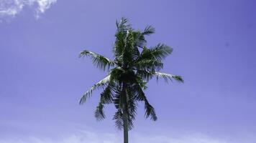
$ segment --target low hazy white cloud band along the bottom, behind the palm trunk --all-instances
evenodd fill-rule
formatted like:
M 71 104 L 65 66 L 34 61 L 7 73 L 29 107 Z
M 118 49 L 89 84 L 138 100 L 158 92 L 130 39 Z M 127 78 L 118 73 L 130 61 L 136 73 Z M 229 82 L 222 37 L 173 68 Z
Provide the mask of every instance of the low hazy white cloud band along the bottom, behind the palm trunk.
M 122 134 L 121 134 L 122 135 Z M 219 139 L 213 139 L 202 135 L 192 135 L 189 137 L 165 137 L 165 136 L 144 136 L 142 134 L 134 134 L 129 137 L 132 143 L 231 143 Z M 62 139 L 41 139 L 36 137 L 29 137 L 29 139 L 6 139 L 1 140 L 0 143 L 120 143 L 122 137 L 120 134 L 109 133 L 95 133 L 95 132 L 78 132 L 70 134 Z

